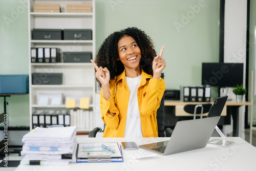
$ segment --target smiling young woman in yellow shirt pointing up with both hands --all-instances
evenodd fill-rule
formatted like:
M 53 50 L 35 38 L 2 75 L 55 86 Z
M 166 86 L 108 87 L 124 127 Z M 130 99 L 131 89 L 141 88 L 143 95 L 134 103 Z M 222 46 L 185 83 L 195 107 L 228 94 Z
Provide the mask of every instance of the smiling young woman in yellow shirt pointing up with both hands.
M 166 64 L 153 42 L 133 27 L 114 32 L 101 45 L 95 75 L 101 87 L 103 137 L 158 137 L 157 109 L 165 90 Z M 99 66 L 99 67 L 98 67 Z

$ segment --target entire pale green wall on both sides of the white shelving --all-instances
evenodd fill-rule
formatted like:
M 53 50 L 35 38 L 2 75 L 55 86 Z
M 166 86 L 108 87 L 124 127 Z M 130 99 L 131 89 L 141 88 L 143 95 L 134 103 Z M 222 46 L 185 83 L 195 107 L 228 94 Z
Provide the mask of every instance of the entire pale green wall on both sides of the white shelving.
M 0 74 L 29 73 L 28 13 L 22 2 L 0 0 Z M 96 0 L 96 48 L 114 31 L 138 27 L 151 36 L 157 53 L 165 45 L 166 89 L 198 86 L 201 63 L 219 59 L 219 7 L 220 1 L 210 0 Z M 9 125 L 28 126 L 29 96 L 7 100 Z

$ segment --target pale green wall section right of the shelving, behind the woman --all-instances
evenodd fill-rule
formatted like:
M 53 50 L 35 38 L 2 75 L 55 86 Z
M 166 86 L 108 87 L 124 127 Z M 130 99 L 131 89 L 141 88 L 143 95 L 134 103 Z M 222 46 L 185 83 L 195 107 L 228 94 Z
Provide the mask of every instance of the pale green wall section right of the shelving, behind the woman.
M 203 7 L 199 2 L 205 2 Z M 166 89 L 200 86 L 202 62 L 219 61 L 219 11 L 219 1 L 209 0 L 97 0 L 97 48 L 114 31 L 138 27 L 151 36 L 158 53 L 165 45 Z M 183 26 L 177 29 L 177 23 Z

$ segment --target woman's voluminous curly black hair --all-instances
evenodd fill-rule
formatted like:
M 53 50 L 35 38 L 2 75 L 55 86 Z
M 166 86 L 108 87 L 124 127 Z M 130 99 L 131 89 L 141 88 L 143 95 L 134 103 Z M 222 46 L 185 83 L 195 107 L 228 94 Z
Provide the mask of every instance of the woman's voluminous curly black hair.
M 155 47 L 152 39 L 146 35 L 144 31 L 136 27 L 127 28 L 112 33 L 103 41 L 95 58 L 95 63 L 98 67 L 108 68 L 110 71 L 110 79 L 120 75 L 124 66 L 119 59 L 118 41 L 124 36 L 131 36 L 136 41 L 141 51 L 140 67 L 150 75 L 153 75 L 152 62 L 156 55 Z M 96 71 L 95 71 L 96 72 Z M 96 78 L 101 87 L 101 83 Z

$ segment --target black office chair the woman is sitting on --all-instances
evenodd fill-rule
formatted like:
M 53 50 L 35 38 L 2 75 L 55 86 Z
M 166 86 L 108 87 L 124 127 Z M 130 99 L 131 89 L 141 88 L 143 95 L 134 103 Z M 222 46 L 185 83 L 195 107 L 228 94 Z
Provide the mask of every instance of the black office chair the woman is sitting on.
M 164 78 L 164 73 L 162 73 L 161 78 Z M 158 137 L 170 137 L 173 133 L 172 129 L 167 128 L 164 130 L 164 94 L 160 102 L 160 106 L 157 110 L 157 127 L 158 127 Z M 105 124 L 104 124 L 105 128 Z M 88 135 L 88 137 L 96 137 L 98 132 L 104 132 L 101 127 L 95 127 Z

